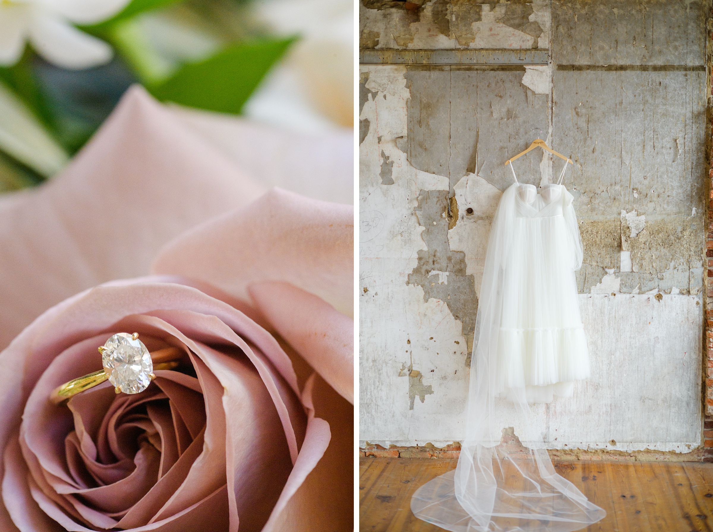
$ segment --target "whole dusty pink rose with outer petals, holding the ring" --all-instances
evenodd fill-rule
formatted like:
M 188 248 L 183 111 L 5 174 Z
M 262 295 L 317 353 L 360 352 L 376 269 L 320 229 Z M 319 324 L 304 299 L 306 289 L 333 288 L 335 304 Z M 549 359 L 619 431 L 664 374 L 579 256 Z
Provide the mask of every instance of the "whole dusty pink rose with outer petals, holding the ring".
M 259 180 L 134 89 L 0 199 L 0 530 L 352 529 L 352 207 Z M 182 364 L 48 402 L 116 332 Z

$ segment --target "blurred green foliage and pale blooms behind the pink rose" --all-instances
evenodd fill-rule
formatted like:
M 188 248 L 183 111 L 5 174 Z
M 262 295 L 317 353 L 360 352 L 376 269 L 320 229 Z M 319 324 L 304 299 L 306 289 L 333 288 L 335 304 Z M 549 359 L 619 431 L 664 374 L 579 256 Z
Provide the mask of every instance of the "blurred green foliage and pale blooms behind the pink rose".
M 0 67 L 0 192 L 61 170 L 133 83 L 164 102 L 242 115 L 289 58 L 314 80 L 314 113 L 285 118 L 280 100 L 298 82 L 278 73 L 252 115 L 304 131 L 352 127 L 351 26 L 344 0 L 131 0 L 106 21 L 77 26 L 113 48 L 106 64 L 60 68 L 28 43 L 19 61 Z

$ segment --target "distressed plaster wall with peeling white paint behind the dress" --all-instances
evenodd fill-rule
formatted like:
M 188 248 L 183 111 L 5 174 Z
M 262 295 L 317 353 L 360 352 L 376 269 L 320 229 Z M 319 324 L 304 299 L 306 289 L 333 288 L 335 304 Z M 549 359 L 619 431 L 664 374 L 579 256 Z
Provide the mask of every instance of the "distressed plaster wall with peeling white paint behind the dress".
M 361 440 L 461 437 L 503 162 L 539 135 L 575 162 L 593 361 L 572 400 L 535 408 L 546 441 L 700 447 L 706 4 L 408 4 L 362 0 L 362 48 L 539 47 L 550 63 L 362 66 Z M 538 185 L 560 162 L 538 150 L 514 167 Z

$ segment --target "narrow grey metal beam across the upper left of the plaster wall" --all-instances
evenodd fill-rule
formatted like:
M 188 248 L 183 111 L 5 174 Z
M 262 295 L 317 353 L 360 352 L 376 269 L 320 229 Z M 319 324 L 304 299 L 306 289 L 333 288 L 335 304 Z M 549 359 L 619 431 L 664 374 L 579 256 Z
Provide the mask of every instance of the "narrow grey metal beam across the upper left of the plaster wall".
M 366 65 L 546 65 L 548 50 L 360 50 Z

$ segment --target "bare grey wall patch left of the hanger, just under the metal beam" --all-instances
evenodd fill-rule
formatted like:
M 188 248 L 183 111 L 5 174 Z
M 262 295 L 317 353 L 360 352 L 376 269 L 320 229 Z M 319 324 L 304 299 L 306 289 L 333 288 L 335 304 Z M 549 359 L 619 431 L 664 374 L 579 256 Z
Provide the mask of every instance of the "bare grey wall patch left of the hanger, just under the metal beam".
M 409 68 L 411 99 L 402 144 L 411 165 L 448 176 L 451 187 L 466 174 L 477 174 L 499 190 L 509 187 L 513 174 L 503 162 L 528 147 L 538 132 L 548 131 L 549 97 L 535 94 L 522 79 L 520 67 Z M 536 156 L 521 157 L 514 167 L 523 182 L 539 184 L 545 177 Z

